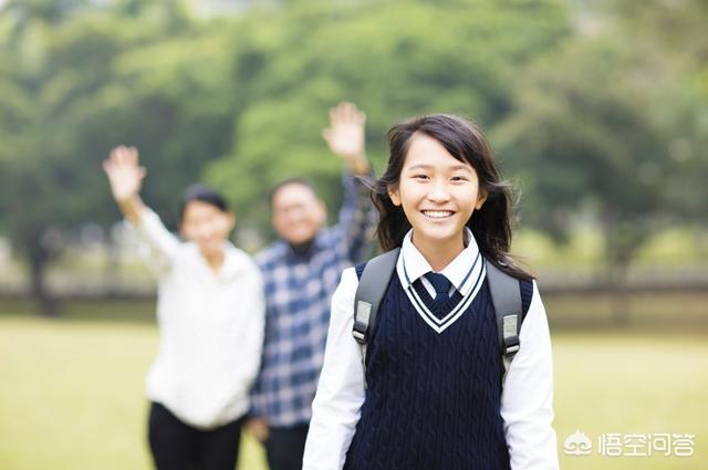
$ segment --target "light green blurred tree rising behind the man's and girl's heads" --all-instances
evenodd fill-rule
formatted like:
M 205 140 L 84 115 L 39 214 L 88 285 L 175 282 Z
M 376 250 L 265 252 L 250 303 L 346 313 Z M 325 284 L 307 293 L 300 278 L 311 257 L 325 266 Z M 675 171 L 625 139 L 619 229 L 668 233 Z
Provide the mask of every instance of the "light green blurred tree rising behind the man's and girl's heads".
M 339 101 L 369 116 L 367 152 L 381 168 L 385 129 L 404 117 L 448 112 L 493 125 L 517 67 L 570 32 L 563 4 L 548 0 L 298 1 L 249 20 L 233 34 L 247 103 L 232 149 L 206 178 L 261 231 L 267 191 L 287 176 L 312 177 L 339 206 L 341 164 L 320 137 Z

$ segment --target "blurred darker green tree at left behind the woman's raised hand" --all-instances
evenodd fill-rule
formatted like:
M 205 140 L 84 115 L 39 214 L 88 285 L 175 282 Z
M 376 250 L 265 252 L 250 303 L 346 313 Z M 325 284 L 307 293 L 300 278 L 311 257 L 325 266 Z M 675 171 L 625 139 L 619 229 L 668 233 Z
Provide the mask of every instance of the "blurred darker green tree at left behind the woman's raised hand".
M 82 223 L 115 220 L 101 161 L 137 145 L 150 171 L 146 200 L 175 222 L 178 195 L 231 145 L 233 96 L 221 36 L 165 2 L 129 20 L 90 11 L 23 20 L 0 41 L 0 227 L 30 267 L 49 314 L 48 263 Z M 0 28 L 12 29 L 9 12 Z M 177 28 L 178 27 L 178 28 Z M 65 237 L 64 237 L 65 238 Z

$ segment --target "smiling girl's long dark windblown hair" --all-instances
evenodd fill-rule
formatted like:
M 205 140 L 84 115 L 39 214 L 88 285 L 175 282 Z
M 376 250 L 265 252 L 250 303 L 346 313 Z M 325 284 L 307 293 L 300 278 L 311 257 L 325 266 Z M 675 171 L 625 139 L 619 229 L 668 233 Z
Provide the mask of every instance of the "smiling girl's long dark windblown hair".
M 398 187 L 410 138 L 418 133 L 439 142 L 452 157 L 471 165 L 477 171 L 480 191 L 487 195 L 487 200 L 466 224 L 475 234 L 482 255 L 514 278 L 532 279 L 531 274 L 513 264 L 509 254 L 513 217 L 511 185 L 501 179 L 481 129 L 458 116 L 420 116 L 388 129 L 388 165 L 372 188 L 372 201 L 379 215 L 376 234 L 382 249 L 388 251 L 400 247 L 412 227 L 403 208 L 391 200 L 388 190 Z

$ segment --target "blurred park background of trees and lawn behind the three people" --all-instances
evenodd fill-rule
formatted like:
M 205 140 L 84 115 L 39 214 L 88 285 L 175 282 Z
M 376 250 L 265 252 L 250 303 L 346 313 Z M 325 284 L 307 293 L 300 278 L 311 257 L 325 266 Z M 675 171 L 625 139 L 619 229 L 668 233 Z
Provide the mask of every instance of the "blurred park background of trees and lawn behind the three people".
M 457 113 L 486 129 L 519 196 L 513 251 L 560 330 L 561 443 L 576 426 L 705 439 L 684 411 L 705 411 L 694 378 L 708 376 L 706 24 L 704 0 L 0 0 L 0 376 L 15 385 L 0 387 L 0 468 L 147 464 L 155 283 L 117 223 L 110 149 L 139 148 L 144 199 L 173 229 L 186 186 L 222 190 L 254 252 L 284 177 L 314 179 L 336 213 L 342 165 L 321 130 L 342 100 L 366 112 L 379 174 L 402 118 Z M 621 333 L 574 336 L 595 327 Z M 669 331 L 698 335 L 688 363 Z M 122 437 L 75 443 L 102 424 Z M 52 452 L 27 447 L 54 435 Z

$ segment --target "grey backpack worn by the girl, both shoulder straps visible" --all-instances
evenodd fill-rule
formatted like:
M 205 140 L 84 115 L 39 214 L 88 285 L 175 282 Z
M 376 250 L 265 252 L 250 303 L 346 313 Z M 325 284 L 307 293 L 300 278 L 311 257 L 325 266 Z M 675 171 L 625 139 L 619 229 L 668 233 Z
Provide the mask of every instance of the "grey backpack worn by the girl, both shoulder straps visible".
M 362 346 L 364 377 L 366 377 L 366 344 L 376 326 L 378 305 L 396 269 L 399 251 L 400 248 L 395 248 L 369 260 L 364 267 L 356 288 L 352 335 Z M 521 304 L 521 285 L 518 279 L 501 271 L 487 259 L 485 259 L 485 265 L 497 316 L 499 349 L 504 365 L 503 384 L 503 377 L 511 366 L 511 361 L 520 348 L 519 332 L 525 316 Z

